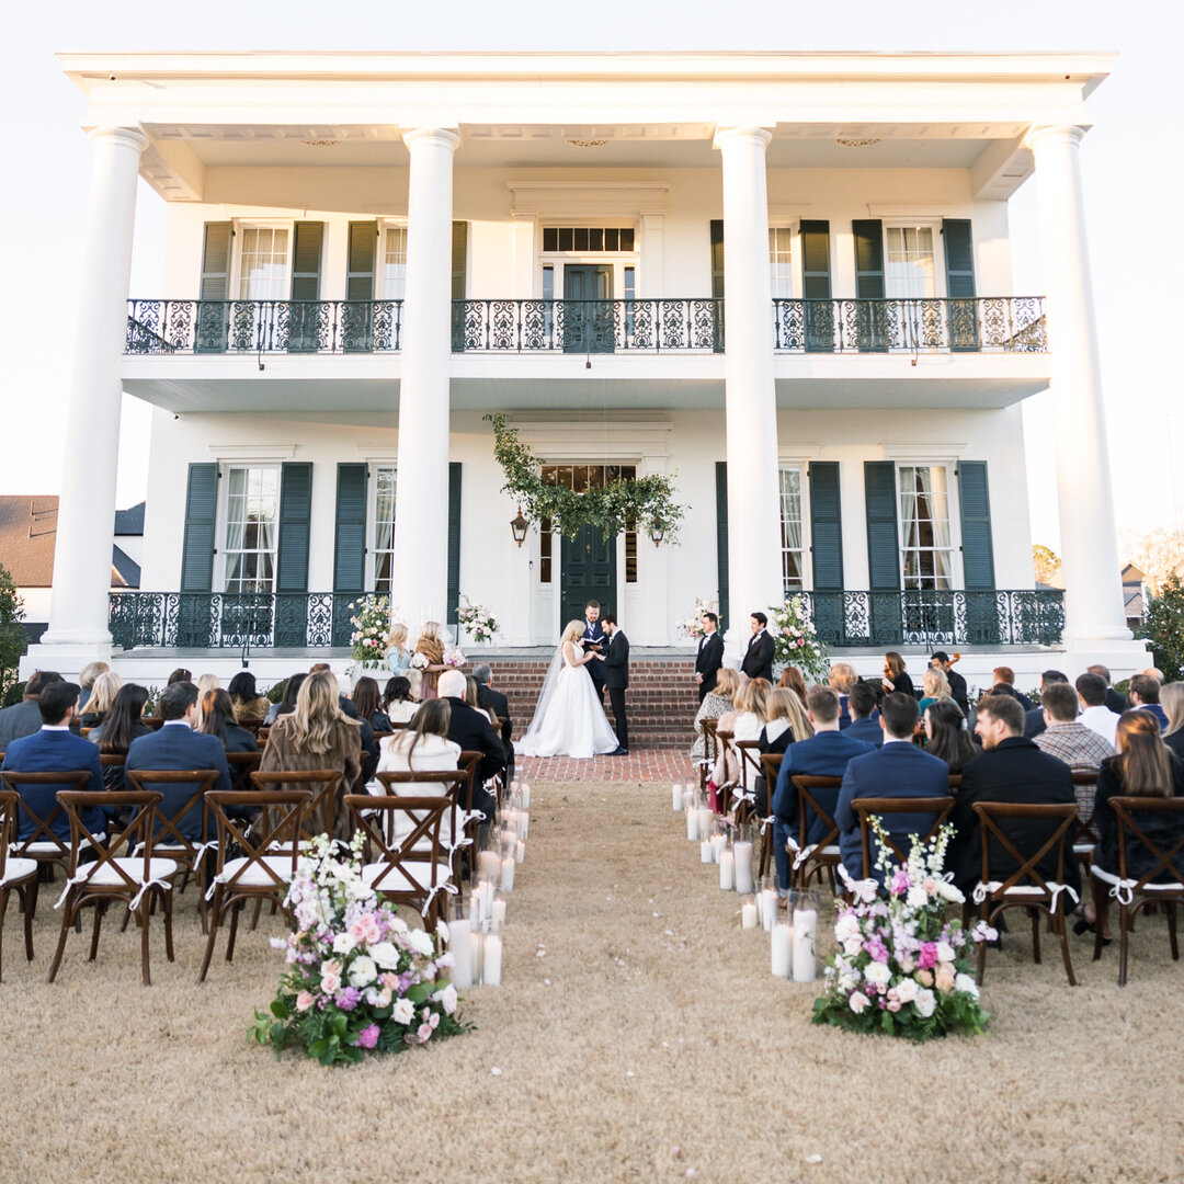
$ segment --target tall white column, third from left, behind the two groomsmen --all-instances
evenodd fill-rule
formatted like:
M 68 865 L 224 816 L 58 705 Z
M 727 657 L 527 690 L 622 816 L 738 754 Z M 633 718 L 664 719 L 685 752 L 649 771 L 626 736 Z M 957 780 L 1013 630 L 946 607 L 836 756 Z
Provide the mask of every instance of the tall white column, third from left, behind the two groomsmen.
M 727 641 L 747 645 L 748 614 L 781 603 L 773 295 L 765 128 L 715 133 L 723 156 L 725 399 L 728 462 Z

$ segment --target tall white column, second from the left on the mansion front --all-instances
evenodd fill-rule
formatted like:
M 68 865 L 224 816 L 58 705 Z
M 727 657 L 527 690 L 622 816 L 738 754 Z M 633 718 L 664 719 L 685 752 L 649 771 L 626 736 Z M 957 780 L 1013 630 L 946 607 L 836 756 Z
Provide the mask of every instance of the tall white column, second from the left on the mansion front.
M 414 628 L 448 610 L 449 377 L 452 333 L 452 154 L 445 128 L 404 135 L 411 153 L 399 489 L 391 603 Z

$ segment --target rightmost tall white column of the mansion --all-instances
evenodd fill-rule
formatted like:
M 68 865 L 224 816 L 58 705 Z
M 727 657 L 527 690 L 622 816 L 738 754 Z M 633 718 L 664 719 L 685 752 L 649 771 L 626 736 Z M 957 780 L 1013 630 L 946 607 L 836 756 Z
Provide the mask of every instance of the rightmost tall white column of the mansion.
M 1106 413 L 1077 150 L 1083 128 L 1028 134 L 1036 162 L 1041 253 L 1056 416 L 1056 482 L 1066 646 L 1128 641 L 1111 493 Z

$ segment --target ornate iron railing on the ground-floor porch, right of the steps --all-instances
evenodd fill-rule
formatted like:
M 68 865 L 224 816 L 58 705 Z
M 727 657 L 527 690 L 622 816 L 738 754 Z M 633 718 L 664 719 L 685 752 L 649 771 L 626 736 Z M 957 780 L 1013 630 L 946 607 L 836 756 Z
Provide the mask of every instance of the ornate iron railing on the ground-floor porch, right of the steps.
M 1064 632 L 1064 593 L 1055 588 L 802 596 L 826 645 L 1058 645 Z

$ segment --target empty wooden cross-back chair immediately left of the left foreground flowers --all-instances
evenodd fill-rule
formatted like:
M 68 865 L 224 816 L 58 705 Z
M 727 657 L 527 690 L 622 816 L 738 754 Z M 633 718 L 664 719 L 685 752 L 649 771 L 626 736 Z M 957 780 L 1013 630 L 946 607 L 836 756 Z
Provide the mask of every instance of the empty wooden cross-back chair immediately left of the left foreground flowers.
M 283 905 L 288 886 L 296 875 L 304 813 L 311 803 L 313 793 L 308 790 L 232 790 L 230 793 L 211 790 L 206 794 L 217 834 L 218 867 L 210 890 L 210 933 L 198 973 L 199 984 L 206 980 L 218 929 L 227 914 L 226 961 L 233 961 L 243 906 L 249 900 L 255 901 L 257 918 L 265 900 L 277 908 Z M 258 810 L 250 826 L 232 813 L 244 809 Z M 232 848 L 239 854 L 231 856 Z

